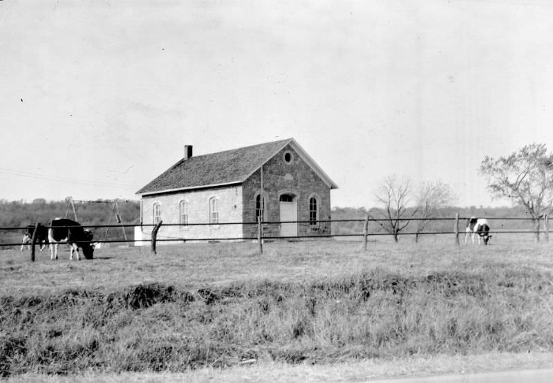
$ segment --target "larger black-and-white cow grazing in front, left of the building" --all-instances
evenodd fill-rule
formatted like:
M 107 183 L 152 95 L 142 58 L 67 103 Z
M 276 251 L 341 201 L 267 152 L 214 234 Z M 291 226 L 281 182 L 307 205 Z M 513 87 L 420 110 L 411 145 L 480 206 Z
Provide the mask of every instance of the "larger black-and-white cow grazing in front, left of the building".
M 79 247 L 82 248 L 82 253 L 86 259 L 93 258 L 92 233 L 90 230 L 84 230 L 78 222 L 71 221 L 71 219 L 53 219 L 48 230 L 48 241 L 50 241 L 50 259 L 57 259 L 57 245 L 59 243 L 68 243 L 71 246 L 70 260 L 73 260 L 73 252 L 77 253 L 77 261 L 80 260 Z

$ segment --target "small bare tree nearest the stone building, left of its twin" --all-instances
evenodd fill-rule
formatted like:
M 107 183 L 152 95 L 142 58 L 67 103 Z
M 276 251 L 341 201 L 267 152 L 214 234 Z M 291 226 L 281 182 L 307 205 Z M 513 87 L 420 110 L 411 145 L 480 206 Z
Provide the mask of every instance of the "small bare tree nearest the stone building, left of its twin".
M 405 218 L 409 203 L 409 188 L 408 179 L 398 180 L 394 175 L 384 178 L 375 193 L 387 219 L 382 227 L 392 234 L 395 242 L 398 240 L 399 233 L 409 225 L 409 221 Z

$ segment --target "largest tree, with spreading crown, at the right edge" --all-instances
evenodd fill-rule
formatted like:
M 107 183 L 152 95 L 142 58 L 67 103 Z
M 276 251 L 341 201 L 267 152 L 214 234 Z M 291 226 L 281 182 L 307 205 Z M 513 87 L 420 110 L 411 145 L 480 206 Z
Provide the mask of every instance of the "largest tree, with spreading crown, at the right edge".
M 506 197 L 527 209 L 539 241 L 540 218 L 550 212 L 553 199 L 553 154 L 545 144 L 529 144 L 497 160 L 486 156 L 480 174 L 494 198 Z

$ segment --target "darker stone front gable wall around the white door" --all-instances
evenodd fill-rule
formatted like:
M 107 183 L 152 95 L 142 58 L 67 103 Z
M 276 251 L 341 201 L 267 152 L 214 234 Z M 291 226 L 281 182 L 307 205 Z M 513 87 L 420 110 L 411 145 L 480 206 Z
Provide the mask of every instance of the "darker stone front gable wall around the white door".
M 285 154 L 290 153 L 292 160 L 285 161 Z M 256 171 L 243 183 L 243 219 L 244 222 L 256 221 L 256 195 L 261 186 L 261 173 Z M 297 200 L 298 235 L 330 234 L 330 223 L 321 222 L 317 227 L 309 224 L 309 198 L 317 196 L 321 220 L 330 219 L 330 187 L 328 187 L 311 167 L 300 158 L 298 153 L 287 145 L 276 156 L 263 165 L 263 191 L 265 192 L 264 236 L 279 236 L 280 201 L 283 193 L 294 194 Z M 256 225 L 244 225 L 244 237 L 255 237 Z

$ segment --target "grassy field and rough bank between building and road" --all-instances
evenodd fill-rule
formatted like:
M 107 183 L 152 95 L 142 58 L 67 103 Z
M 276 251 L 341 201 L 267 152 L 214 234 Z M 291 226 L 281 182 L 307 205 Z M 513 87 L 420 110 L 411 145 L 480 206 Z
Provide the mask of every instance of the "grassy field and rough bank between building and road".
M 324 241 L 0 252 L 0 375 L 328 364 L 553 346 L 547 245 Z

